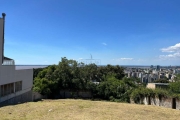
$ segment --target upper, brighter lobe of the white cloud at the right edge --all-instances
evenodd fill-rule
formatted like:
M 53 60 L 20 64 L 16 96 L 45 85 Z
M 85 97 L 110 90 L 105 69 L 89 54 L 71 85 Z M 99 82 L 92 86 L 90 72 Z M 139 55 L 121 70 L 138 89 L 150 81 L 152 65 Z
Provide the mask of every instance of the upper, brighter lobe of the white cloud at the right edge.
M 170 46 L 167 48 L 162 48 L 162 52 L 180 52 L 180 43 L 175 44 L 174 46 Z

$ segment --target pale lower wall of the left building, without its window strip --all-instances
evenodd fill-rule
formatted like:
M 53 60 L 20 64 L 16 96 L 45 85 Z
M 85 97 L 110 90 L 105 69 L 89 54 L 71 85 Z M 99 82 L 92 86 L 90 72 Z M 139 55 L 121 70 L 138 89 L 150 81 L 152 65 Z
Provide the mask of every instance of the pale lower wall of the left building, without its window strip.
M 1 66 L 1 65 L 0 65 Z M 33 70 L 15 70 L 15 66 L 1 66 L 0 69 L 0 85 L 22 81 L 22 90 L 0 97 L 0 102 L 12 99 L 17 95 L 24 94 L 32 89 Z

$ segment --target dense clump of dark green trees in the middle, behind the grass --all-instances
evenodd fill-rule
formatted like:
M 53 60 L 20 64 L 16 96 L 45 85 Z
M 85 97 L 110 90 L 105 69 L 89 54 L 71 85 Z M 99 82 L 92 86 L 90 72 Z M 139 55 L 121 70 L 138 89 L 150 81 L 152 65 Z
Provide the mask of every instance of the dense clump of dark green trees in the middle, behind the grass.
M 49 98 L 54 98 L 61 90 L 88 90 L 94 97 L 110 99 L 112 96 L 121 101 L 128 101 L 127 95 L 134 83 L 122 79 L 123 77 L 124 69 L 120 66 L 85 65 L 63 57 L 58 65 L 48 66 L 36 73 L 33 90 Z

